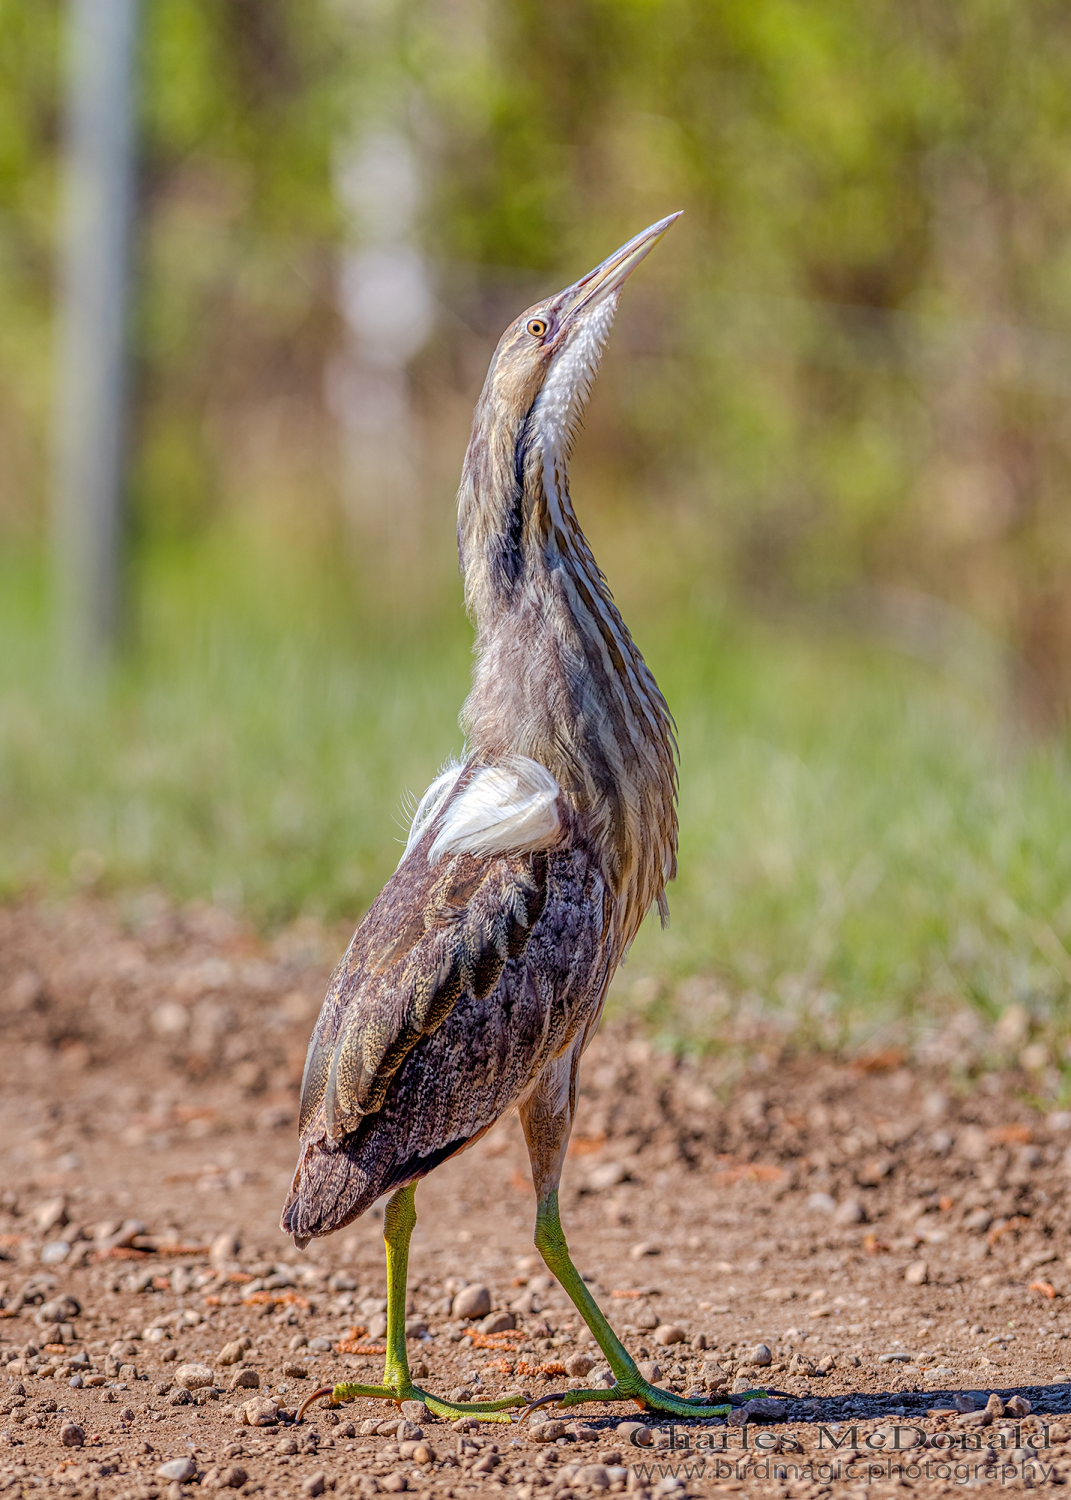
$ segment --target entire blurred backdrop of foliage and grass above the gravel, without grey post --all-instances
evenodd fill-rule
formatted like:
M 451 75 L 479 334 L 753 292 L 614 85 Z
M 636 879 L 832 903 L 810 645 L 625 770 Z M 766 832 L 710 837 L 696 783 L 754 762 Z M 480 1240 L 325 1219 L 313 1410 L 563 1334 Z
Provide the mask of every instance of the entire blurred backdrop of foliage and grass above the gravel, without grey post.
M 681 735 L 672 926 L 614 1004 L 690 1046 L 976 1034 L 1064 1090 L 1066 6 L 142 0 L 84 651 L 68 56 L 64 6 L 0 6 L 0 890 L 348 930 L 459 747 L 498 334 L 684 208 L 573 471 Z

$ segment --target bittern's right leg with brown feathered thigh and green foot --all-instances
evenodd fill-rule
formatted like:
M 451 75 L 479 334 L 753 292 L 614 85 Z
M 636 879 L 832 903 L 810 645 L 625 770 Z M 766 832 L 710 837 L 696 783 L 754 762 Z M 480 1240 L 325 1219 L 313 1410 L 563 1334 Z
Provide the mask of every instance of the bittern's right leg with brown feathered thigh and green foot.
M 532 1180 L 536 1184 L 536 1248 L 591 1329 L 596 1342 L 610 1366 L 614 1386 L 609 1390 L 562 1390 L 555 1395 L 540 1396 L 528 1410 L 549 1402 L 573 1407 L 588 1401 L 634 1401 L 640 1408 L 668 1412 L 682 1418 L 726 1416 L 732 1410 L 728 1404 L 705 1406 L 687 1401 L 670 1390 L 662 1390 L 644 1378 L 632 1354 L 588 1292 L 584 1278 L 568 1254 L 568 1245 L 566 1244 L 566 1234 L 558 1215 L 558 1182 L 566 1160 L 568 1131 L 573 1124 L 579 1052 L 580 1048 L 578 1047 L 572 1058 L 566 1054 L 548 1068 L 532 1095 L 520 1106 L 520 1124 L 528 1142 Z M 765 1394 L 765 1390 L 748 1390 L 744 1392 L 742 1398 L 747 1400 L 748 1396 Z M 738 1396 L 736 1400 L 741 1398 Z

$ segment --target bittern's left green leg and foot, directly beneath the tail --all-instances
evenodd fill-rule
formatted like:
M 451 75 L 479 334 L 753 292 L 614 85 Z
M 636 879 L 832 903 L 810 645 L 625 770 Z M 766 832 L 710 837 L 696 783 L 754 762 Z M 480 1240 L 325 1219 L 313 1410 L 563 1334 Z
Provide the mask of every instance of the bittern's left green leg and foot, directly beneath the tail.
M 471 1404 L 441 1401 L 440 1396 L 429 1395 L 420 1386 L 412 1384 L 410 1358 L 405 1348 L 405 1284 L 410 1270 L 410 1240 L 417 1222 L 416 1194 L 416 1182 L 399 1188 L 382 1215 L 382 1239 L 387 1250 L 387 1350 L 382 1384 L 362 1386 L 344 1380 L 336 1386 L 322 1386 L 302 1402 L 298 1420 L 304 1414 L 304 1408 L 322 1395 L 330 1395 L 332 1404 L 356 1401 L 358 1396 L 394 1401 L 399 1406 L 402 1401 L 423 1401 L 436 1416 L 476 1416 L 483 1422 L 508 1422 L 512 1418 L 507 1408 L 525 1406 L 525 1398 L 520 1395 L 506 1396 L 502 1401 Z

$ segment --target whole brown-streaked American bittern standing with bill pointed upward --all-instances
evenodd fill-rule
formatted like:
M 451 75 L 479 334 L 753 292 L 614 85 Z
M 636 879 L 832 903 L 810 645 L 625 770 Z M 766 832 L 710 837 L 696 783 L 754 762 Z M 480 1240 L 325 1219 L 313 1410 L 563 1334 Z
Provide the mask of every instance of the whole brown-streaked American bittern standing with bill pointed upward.
M 676 868 L 672 720 L 576 520 L 568 456 L 626 278 L 675 218 L 512 322 L 476 408 L 458 502 L 477 633 L 468 753 L 424 794 L 402 861 L 332 980 L 282 1215 L 303 1245 L 393 1191 L 382 1384 L 334 1386 L 336 1401 L 417 1398 L 441 1416 L 498 1422 L 525 1404 L 441 1401 L 412 1384 L 405 1353 L 416 1184 L 516 1104 L 536 1245 L 615 1378 L 549 1400 L 729 1410 L 644 1380 L 558 1218 L 580 1054 L 640 921 L 656 903 L 664 915 Z

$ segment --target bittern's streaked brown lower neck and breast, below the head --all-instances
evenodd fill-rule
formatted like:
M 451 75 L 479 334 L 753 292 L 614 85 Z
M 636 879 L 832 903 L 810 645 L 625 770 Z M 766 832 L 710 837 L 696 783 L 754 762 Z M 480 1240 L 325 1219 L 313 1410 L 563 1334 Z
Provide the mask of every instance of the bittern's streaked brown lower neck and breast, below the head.
M 568 495 L 566 462 L 470 446 L 459 496 L 476 666 L 474 756 L 525 754 L 568 800 L 616 900 L 622 945 L 676 867 L 672 718 Z

